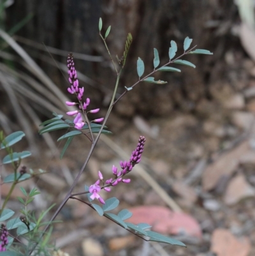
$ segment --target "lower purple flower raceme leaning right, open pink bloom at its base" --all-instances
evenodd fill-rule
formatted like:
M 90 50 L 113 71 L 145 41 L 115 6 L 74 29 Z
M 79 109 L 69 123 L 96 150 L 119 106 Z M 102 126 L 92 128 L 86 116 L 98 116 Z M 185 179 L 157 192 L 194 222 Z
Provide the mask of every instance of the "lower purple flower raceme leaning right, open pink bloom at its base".
M 98 181 L 96 181 L 95 184 L 92 184 L 89 187 L 89 192 L 92 193 L 91 195 L 92 200 L 98 199 L 99 202 L 101 202 L 102 204 L 105 204 L 105 201 L 98 194 L 102 188 L 107 192 L 110 192 L 111 189 L 109 188 L 109 186 L 117 186 L 117 184 L 120 183 L 120 181 L 122 181 L 123 183 L 130 183 L 131 179 L 123 179 L 122 177 L 128 174 L 128 172 L 130 172 L 133 169 L 133 167 L 141 161 L 144 144 L 145 144 L 145 137 L 140 136 L 136 149 L 132 152 L 129 161 L 128 162 L 120 161 L 120 167 L 122 170 L 118 172 L 117 167 L 115 167 L 114 165 L 112 166 L 112 174 L 114 178 L 107 179 L 104 183 L 103 174 L 101 174 L 100 171 L 98 172 L 98 177 L 99 177 Z M 99 186 L 100 181 L 103 182 L 102 187 Z

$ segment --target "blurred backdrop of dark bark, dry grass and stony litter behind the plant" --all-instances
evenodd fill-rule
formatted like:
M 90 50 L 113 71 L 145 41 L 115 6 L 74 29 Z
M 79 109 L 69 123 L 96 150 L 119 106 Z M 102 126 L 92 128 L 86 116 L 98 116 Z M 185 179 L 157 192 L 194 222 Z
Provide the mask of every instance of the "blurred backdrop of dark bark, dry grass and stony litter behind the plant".
M 112 26 L 107 38 L 112 56 L 121 57 L 128 33 L 133 36 L 118 95 L 138 80 L 138 57 L 145 74 L 153 70 L 154 48 L 161 64 L 169 61 L 171 40 L 179 46 L 177 55 L 186 36 L 193 38 L 192 46 L 214 53 L 185 56 L 195 69 L 156 73 L 156 80 L 168 84 L 141 83 L 129 91 L 106 123 L 113 135 L 99 142 L 77 188 L 94 183 L 98 170 L 110 176 L 112 165 L 125 153 L 129 158 L 145 135 L 142 170 L 104 196 L 118 195 L 120 209 L 136 213 L 134 222 L 150 213 L 144 222 L 188 248 L 143 243 L 80 203 L 68 202 L 54 232 L 62 250 L 90 256 L 254 255 L 253 0 L 2 0 L 0 13 L 0 128 L 6 135 L 23 130 L 27 142 L 20 147 L 34 156 L 27 165 L 48 172 L 26 184 L 42 192 L 34 209 L 64 197 L 89 149 L 88 142 L 76 140 L 60 161 L 59 133 L 38 135 L 42 121 L 53 111 L 66 112 L 64 102 L 74 100 L 66 90 L 69 52 L 91 107 L 100 107 L 101 117 L 110 103 L 116 75 L 99 38 L 99 17 L 103 31 Z

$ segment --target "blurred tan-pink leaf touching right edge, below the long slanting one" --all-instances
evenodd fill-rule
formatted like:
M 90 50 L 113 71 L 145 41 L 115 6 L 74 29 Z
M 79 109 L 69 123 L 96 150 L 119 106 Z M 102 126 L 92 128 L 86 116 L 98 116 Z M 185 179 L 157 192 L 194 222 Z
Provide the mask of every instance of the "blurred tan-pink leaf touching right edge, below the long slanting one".
M 253 197 L 254 195 L 254 188 L 247 183 L 243 174 L 239 174 L 237 177 L 231 179 L 224 195 L 224 202 L 228 205 L 232 205 L 236 204 L 241 199 Z

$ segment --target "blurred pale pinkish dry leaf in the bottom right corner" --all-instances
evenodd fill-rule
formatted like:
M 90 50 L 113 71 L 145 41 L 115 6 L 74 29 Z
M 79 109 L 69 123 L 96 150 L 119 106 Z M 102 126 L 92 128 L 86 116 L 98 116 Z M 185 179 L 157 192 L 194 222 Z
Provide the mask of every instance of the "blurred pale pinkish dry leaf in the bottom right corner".
M 217 256 L 247 256 L 251 250 L 248 237 L 237 239 L 227 229 L 215 229 L 210 250 Z

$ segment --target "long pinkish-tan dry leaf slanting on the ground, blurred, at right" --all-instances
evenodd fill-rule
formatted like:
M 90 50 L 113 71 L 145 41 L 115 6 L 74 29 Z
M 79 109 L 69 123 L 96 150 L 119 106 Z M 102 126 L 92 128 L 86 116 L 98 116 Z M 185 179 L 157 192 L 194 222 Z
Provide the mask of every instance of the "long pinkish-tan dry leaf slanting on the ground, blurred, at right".
M 249 142 L 245 141 L 209 165 L 203 173 L 203 189 L 212 190 L 222 176 L 230 176 L 237 169 L 240 160 L 250 152 Z

